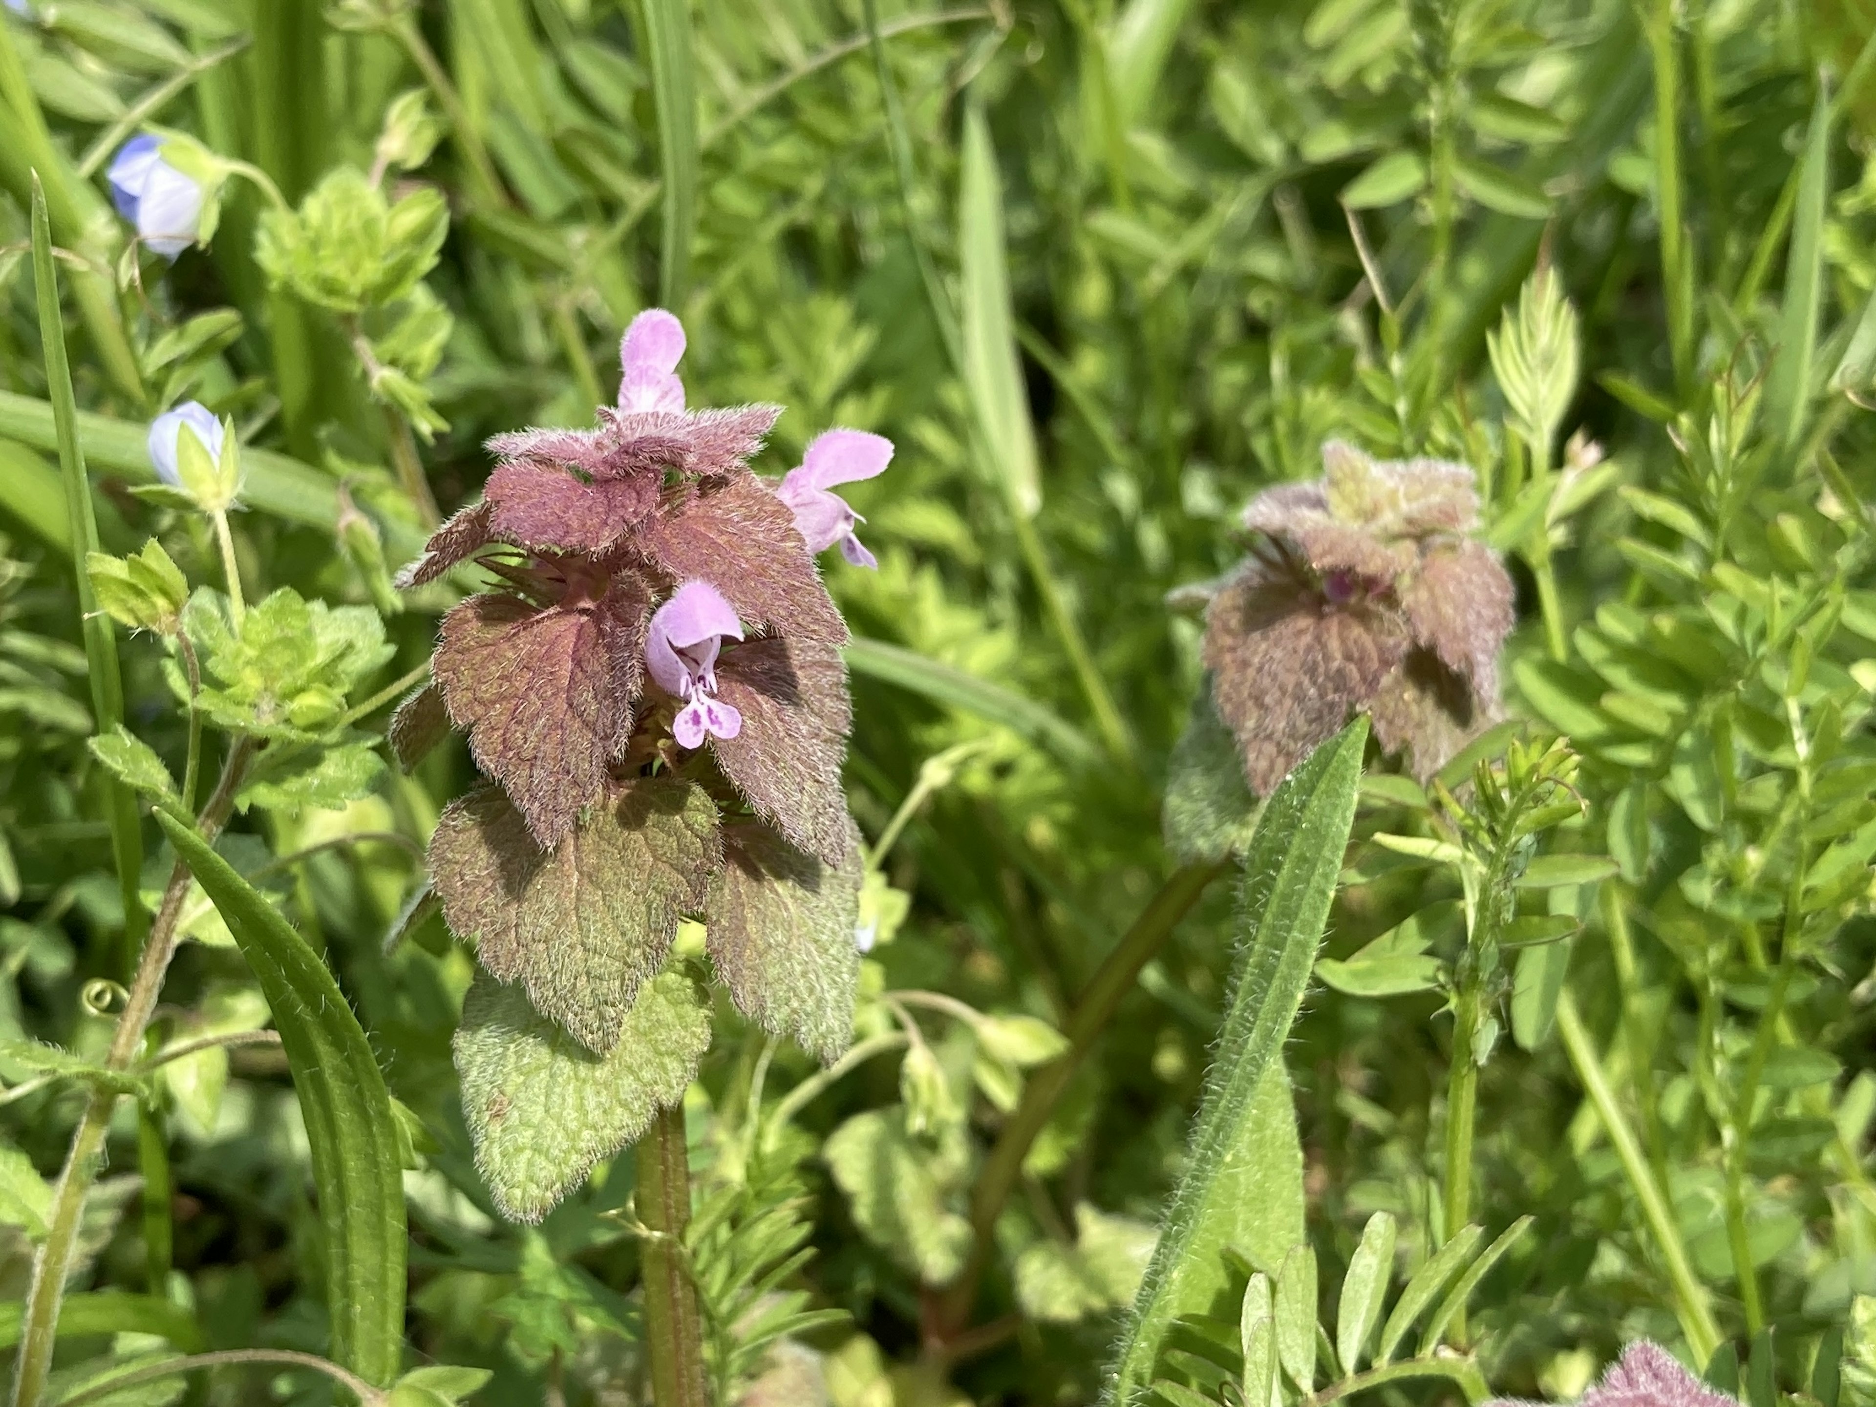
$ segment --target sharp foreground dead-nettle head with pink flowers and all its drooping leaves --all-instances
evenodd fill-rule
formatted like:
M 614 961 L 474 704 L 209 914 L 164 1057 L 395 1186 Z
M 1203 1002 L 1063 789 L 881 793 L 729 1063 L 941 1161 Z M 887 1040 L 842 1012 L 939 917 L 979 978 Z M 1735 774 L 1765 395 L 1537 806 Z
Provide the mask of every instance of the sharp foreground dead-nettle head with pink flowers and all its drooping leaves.
M 831 488 L 893 446 L 833 430 L 760 478 L 780 407 L 685 409 L 683 351 L 675 317 L 636 317 L 617 407 L 495 437 L 484 499 L 403 578 L 499 582 L 445 617 L 392 743 L 415 765 L 454 726 L 490 779 L 445 809 L 430 870 L 484 968 L 456 1066 L 520 1219 L 683 1099 L 711 1030 L 698 966 L 672 962 L 683 919 L 773 1036 L 831 1060 L 852 1028 L 846 625 L 814 553 L 867 561 Z

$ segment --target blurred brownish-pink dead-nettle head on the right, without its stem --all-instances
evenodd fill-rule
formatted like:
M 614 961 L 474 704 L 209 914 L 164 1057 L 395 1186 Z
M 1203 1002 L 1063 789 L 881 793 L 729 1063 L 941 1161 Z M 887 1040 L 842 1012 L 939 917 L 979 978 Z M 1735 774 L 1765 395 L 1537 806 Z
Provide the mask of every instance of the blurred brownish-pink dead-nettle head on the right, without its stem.
M 1251 555 L 1206 608 L 1212 694 L 1259 795 L 1354 711 L 1422 779 L 1497 715 L 1514 593 L 1469 537 L 1473 471 L 1339 441 L 1323 469 L 1251 501 Z

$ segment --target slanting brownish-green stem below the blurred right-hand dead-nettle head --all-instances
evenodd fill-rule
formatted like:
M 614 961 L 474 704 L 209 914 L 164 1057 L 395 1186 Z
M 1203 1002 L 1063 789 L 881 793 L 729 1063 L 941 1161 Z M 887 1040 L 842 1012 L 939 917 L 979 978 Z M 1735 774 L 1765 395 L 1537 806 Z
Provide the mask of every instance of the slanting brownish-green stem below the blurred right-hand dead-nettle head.
M 1036 1135 L 1043 1131 L 1056 1101 L 1075 1079 L 1075 1071 L 1081 1069 L 1096 1039 L 1120 1009 L 1120 1000 L 1133 991 L 1141 968 L 1152 961 L 1178 921 L 1199 902 L 1199 895 L 1223 872 L 1225 865 L 1186 865 L 1159 885 L 1159 893 L 1146 902 L 1133 927 L 1101 961 L 1099 970 L 1075 1002 L 1062 1030 L 1069 1041 L 1067 1054 L 1036 1069 L 1024 1082 L 1017 1112 L 998 1133 L 996 1146 L 991 1148 L 970 1199 L 970 1257 L 964 1263 L 964 1272 L 951 1283 L 940 1304 L 938 1328 L 942 1338 L 957 1334 L 970 1321 L 970 1311 L 977 1302 L 977 1281 L 991 1259 L 996 1218 L 1002 1216 L 1009 1193 L 1022 1176 L 1022 1159 L 1028 1156 L 1030 1144 L 1036 1142 Z

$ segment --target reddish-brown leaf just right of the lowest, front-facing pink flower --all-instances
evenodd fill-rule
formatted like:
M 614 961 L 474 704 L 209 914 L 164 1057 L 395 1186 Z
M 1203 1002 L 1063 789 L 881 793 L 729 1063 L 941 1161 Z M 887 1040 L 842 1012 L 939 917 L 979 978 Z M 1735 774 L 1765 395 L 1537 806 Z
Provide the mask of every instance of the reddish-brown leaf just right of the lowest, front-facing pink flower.
M 743 715 L 711 749 L 735 788 L 797 848 L 840 867 L 852 846 L 840 762 L 850 722 L 840 651 L 812 640 L 749 640 L 717 662 L 717 687 Z

